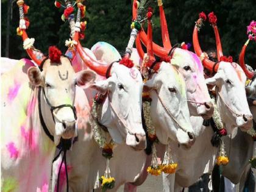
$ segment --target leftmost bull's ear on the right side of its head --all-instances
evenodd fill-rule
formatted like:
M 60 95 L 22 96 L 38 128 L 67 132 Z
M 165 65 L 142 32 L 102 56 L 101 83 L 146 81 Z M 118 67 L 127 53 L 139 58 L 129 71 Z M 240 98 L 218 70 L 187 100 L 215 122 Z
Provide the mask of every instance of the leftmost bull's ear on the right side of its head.
M 83 70 L 76 74 L 76 82 L 79 86 L 93 83 L 96 79 L 96 74 L 90 70 Z

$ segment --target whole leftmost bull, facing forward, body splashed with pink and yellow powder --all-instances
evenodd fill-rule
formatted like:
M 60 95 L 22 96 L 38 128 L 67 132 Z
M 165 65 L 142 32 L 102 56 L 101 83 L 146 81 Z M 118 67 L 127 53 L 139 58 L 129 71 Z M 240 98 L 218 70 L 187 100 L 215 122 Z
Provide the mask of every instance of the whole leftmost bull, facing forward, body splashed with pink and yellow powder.
M 45 57 L 26 34 L 24 1 L 19 0 L 24 49 L 38 66 L 20 60 L 2 74 L 1 179 L 2 191 L 48 191 L 56 147 L 69 148 L 76 137 L 76 85 L 95 78 L 92 71 L 74 73 L 70 60 L 59 49 Z

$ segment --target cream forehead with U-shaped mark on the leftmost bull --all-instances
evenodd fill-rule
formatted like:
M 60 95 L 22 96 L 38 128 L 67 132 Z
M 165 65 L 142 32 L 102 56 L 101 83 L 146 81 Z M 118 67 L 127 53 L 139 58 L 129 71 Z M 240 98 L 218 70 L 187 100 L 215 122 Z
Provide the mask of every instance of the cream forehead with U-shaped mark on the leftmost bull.
M 61 64 L 51 64 L 50 60 L 46 60 L 43 66 L 46 82 L 51 84 L 71 84 L 74 78 L 74 69 L 66 57 L 61 57 Z

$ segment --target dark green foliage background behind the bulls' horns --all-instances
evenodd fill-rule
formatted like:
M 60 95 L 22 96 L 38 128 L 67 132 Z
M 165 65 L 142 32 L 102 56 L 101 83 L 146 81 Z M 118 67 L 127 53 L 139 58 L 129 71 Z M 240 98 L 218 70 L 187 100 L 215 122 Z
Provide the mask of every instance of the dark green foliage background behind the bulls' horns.
M 1 56 L 5 55 L 5 35 L 7 26 L 8 1 L 1 1 Z M 56 44 L 65 51 L 65 40 L 69 38 L 68 22 L 60 19 L 63 10 L 54 6 L 54 0 L 26 0 L 30 6 L 29 37 L 34 37 L 35 47 L 47 52 L 50 45 Z M 251 20 L 256 20 L 255 0 L 163 0 L 169 35 L 172 44 L 192 42 L 194 21 L 198 13 L 215 12 L 218 16 L 218 27 L 221 35 L 222 49 L 225 55 L 232 55 L 235 60 L 247 40 L 246 26 Z M 132 1 L 130 0 L 87 0 L 87 30 L 83 46 L 91 48 L 98 41 L 107 41 L 120 52 L 124 52 L 129 40 L 130 23 L 132 19 Z M 158 17 L 157 2 L 154 12 L 154 41 L 161 44 L 161 30 Z M 19 16 L 18 6 L 13 3 L 12 20 L 10 21 L 10 54 L 12 59 L 27 57 L 22 48 L 21 37 L 16 35 Z M 202 49 L 215 49 L 213 29 L 208 23 L 200 32 Z M 193 49 L 192 49 L 193 50 Z M 256 43 L 251 42 L 247 49 L 246 62 L 251 65 L 256 61 Z

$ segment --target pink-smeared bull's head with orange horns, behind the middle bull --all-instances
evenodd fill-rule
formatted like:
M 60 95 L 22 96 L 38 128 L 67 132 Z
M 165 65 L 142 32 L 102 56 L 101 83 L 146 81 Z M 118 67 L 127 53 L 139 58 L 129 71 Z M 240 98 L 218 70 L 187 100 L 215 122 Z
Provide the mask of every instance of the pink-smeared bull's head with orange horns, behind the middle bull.
M 202 116 L 208 119 L 213 115 L 213 104 L 210 101 L 210 95 L 208 94 L 205 84 L 202 63 L 193 52 L 171 46 L 162 1 L 158 6 L 160 11 L 163 47 L 153 43 L 152 48 L 154 54 L 168 59 L 168 62 L 176 66 L 180 73 L 182 73 L 187 87 L 190 115 Z M 133 4 L 133 18 L 136 17 L 136 13 L 137 7 Z M 137 44 L 140 40 L 144 44 L 147 42 L 146 33 L 143 29 L 137 37 Z M 143 57 L 143 55 L 141 55 L 141 57 Z

